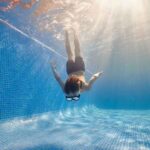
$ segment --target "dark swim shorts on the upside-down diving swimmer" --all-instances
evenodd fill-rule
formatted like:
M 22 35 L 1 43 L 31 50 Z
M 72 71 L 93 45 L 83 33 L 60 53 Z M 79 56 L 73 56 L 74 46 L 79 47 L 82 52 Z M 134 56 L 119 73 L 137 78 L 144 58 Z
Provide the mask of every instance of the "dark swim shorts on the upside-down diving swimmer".
M 85 64 L 83 58 L 81 56 L 78 56 L 75 58 L 75 61 L 68 60 L 66 64 L 66 68 L 67 68 L 68 75 L 77 71 L 85 71 Z

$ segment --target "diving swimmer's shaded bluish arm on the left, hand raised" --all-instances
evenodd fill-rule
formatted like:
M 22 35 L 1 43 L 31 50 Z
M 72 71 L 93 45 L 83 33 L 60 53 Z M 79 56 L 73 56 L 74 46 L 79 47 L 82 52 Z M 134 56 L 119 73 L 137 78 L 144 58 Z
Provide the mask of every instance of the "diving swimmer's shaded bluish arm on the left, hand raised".
M 52 71 L 53 71 L 55 79 L 57 80 L 57 82 L 59 83 L 60 87 L 64 91 L 64 82 L 60 78 L 60 75 L 58 74 L 58 72 L 56 71 L 56 65 L 53 62 L 51 62 L 51 68 L 52 68 Z

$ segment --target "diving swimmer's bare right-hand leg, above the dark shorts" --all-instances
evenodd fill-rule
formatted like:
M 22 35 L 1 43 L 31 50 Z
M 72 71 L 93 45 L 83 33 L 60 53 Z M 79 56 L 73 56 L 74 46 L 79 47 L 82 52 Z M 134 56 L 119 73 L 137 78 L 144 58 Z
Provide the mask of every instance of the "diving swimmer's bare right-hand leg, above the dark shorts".
M 82 57 L 79 39 L 78 39 L 77 34 L 74 29 L 73 29 L 73 33 L 74 33 L 74 45 L 75 45 L 75 57 Z

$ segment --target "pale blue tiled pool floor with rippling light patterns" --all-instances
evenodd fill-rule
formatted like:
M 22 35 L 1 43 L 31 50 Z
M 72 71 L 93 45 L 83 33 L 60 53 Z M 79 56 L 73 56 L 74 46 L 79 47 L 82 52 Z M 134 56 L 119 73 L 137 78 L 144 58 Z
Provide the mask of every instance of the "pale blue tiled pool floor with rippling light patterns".
M 95 106 L 0 123 L 1 150 L 150 150 L 150 111 Z

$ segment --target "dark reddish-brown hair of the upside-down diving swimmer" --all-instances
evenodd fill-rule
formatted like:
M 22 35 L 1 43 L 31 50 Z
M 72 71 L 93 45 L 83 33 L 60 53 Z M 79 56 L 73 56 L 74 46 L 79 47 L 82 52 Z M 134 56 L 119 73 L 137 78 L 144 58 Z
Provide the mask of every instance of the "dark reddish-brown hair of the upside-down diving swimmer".
M 66 94 L 69 94 L 70 92 L 74 93 L 76 91 L 79 91 L 80 89 L 80 80 L 75 77 L 75 76 L 72 76 L 70 77 L 69 79 L 67 79 L 66 83 L 65 83 L 65 93 Z

